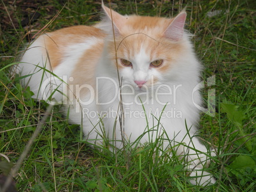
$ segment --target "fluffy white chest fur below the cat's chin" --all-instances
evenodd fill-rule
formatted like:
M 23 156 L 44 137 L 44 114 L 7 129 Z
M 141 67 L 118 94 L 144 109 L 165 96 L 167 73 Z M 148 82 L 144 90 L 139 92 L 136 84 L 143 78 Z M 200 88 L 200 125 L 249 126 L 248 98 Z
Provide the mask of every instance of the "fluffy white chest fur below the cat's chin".
M 170 135 L 175 132 L 182 132 L 180 135 L 183 135 L 186 132 L 185 121 L 190 128 L 196 125 L 199 114 L 192 104 L 191 89 L 169 83 L 138 90 L 131 85 L 122 85 L 122 81 L 120 84 L 124 87 L 120 88 L 119 82 L 118 78 L 106 76 L 97 81 L 101 94 L 96 95 L 96 105 L 99 112 L 104 111 L 106 114 L 102 120 L 110 135 L 113 134 L 115 125 L 115 132 L 124 129 L 126 139 L 134 142 L 147 129 L 160 127 Z M 195 94 L 195 97 L 198 96 Z M 119 118 L 122 118 L 122 123 L 115 123 L 120 121 Z

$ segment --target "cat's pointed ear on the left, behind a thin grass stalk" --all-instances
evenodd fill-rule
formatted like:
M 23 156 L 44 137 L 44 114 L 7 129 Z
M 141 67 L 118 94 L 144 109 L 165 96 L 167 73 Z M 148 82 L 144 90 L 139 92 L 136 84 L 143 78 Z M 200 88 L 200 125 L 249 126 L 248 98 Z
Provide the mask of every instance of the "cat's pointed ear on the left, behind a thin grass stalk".
M 104 6 L 102 4 L 104 13 L 106 14 L 105 20 L 106 22 L 109 22 L 109 26 L 111 29 L 114 29 L 115 35 L 120 34 L 120 29 L 122 25 L 124 25 L 125 17 L 123 15 L 120 15 L 116 11 L 110 10 L 110 8 Z M 113 28 L 112 28 L 112 21 L 113 21 Z M 112 31 L 111 30 L 111 31 Z

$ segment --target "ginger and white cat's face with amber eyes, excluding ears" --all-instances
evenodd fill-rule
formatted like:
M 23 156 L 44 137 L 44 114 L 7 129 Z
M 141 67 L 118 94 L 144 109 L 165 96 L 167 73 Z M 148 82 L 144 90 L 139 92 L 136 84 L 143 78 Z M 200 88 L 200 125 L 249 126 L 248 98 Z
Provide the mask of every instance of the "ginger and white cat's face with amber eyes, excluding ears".
M 169 71 L 179 55 L 177 43 L 164 38 L 155 39 L 145 33 L 120 36 L 109 49 L 112 66 L 118 67 L 122 85 L 131 85 L 135 91 L 157 88 L 169 80 Z M 116 60 L 117 58 L 117 60 Z

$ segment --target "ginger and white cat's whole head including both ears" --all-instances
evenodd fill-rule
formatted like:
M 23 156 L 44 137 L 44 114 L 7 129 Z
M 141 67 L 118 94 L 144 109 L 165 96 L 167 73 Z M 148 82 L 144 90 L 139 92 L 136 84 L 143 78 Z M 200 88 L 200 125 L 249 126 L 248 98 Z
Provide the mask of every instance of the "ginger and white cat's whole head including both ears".
M 193 67 L 190 62 L 196 58 L 184 32 L 185 11 L 174 18 L 162 18 L 123 16 L 104 5 L 103 10 L 106 50 L 123 85 L 139 91 L 145 86 L 157 87 L 183 78 L 183 72 Z

